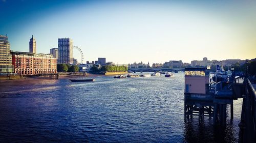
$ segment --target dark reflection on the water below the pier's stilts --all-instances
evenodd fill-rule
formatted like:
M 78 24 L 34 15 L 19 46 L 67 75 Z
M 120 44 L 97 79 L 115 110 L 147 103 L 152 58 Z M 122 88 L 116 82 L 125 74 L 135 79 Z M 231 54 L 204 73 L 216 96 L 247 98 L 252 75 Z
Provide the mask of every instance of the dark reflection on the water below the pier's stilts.
M 227 119 L 226 127 L 212 125 L 212 118 L 198 121 L 189 119 L 185 123 L 185 142 L 238 142 L 238 121 L 236 124 Z

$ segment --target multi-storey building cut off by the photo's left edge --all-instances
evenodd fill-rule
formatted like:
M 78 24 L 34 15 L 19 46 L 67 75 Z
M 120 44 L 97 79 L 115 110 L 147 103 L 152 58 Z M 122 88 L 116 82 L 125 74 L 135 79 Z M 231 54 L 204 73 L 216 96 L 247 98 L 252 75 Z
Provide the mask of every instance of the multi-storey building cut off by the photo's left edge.
M 12 55 L 7 36 L 0 35 L 0 73 L 13 73 Z

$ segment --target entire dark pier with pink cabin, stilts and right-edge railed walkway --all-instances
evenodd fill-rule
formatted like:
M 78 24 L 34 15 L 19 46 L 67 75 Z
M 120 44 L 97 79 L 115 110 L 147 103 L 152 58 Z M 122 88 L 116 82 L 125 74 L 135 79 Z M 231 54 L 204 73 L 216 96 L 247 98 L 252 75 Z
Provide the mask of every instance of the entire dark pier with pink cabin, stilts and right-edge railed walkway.
M 185 68 L 184 121 L 209 117 L 214 125 L 225 127 L 227 106 L 232 120 L 233 100 L 243 98 L 239 142 L 256 142 L 256 92 L 246 75 L 214 82 L 207 68 Z

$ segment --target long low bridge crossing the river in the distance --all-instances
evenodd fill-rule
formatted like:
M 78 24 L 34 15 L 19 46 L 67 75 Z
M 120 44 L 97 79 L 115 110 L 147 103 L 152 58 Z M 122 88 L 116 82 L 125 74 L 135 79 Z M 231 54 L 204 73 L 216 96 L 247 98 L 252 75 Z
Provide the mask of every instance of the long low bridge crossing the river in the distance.
M 155 71 L 168 71 L 168 72 L 177 72 L 184 71 L 185 68 L 129 68 L 129 71 L 136 72 L 155 72 Z

